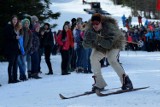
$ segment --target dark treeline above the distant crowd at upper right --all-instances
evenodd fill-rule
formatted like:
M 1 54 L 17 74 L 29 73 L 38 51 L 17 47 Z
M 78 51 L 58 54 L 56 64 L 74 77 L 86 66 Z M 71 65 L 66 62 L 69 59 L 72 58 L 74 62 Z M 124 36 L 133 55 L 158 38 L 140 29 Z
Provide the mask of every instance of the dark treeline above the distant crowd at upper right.
M 148 19 L 159 19 L 160 12 L 156 9 L 157 0 L 112 0 L 114 3 L 131 7 L 132 15 L 139 14 Z M 151 17 L 152 16 L 152 17 Z

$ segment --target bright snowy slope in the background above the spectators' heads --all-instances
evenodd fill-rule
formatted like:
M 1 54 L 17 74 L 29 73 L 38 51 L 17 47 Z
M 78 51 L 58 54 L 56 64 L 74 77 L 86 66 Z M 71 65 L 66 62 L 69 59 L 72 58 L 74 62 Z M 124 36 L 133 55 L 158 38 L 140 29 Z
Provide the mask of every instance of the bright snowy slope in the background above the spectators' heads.
M 122 27 L 121 16 L 123 14 L 128 17 L 131 13 L 131 9 L 121 6 L 115 6 L 110 0 L 87 0 L 88 2 L 100 2 L 103 10 L 111 13 L 111 16 L 116 18 L 120 27 Z M 83 9 L 89 8 L 90 5 L 82 5 L 82 0 L 52 0 L 51 9 L 61 12 L 61 17 L 58 20 L 50 20 L 51 23 L 59 24 L 55 31 L 62 29 L 65 21 L 70 21 L 72 18 L 82 17 L 83 21 L 88 21 L 91 17 Z M 133 21 L 137 23 L 137 18 L 133 18 Z

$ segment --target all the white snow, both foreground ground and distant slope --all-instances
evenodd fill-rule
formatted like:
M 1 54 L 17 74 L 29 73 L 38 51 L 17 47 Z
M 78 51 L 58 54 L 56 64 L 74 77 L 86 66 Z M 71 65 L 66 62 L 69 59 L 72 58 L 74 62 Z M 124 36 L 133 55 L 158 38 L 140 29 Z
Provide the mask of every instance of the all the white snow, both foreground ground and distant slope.
M 62 16 L 56 23 L 63 25 L 64 21 L 73 17 L 83 17 L 88 20 L 90 15 L 83 12 L 88 5 L 82 5 L 81 0 L 52 0 L 53 10 L 62 12 Z M 93 0 L 92 0 L 93 1 Z M 98 0 L 96 0 L 98 1 Z M 110 1 L 100 0 L 108 12 L 121 23 L 121 16 L 129 15 L 127 7 L 114 6 Z M 106 4 L 106 6 L 105 6 Z M 102 8 L 104 8 L 102 7 Z M 70 9 L 72 8 L 72 9 Z M 110 9 L 110 10 L 109 10 Z M 118 10 L 118 11 L 117 11 Z M 129 10 L 129 9 L 128 9 Z M 137 23 L 135 18 L 134 23 Z M 54 21 L 53 21 L 54 22 Z M 51 21 L 52 23 L 52 21 Z M 61 27 L 58 27 L 61 29 Z M 121 26 L 121 25 L 120 25 Z M 58 29 L 57 28 L 57 29 Z M 42 57 L 42 79 L 30 79 L 25 82 L 8 84 L 7 62 L 0 63 L 0 107 L 159 107 L 160 106 L 160 53 L 143 51 L 122 51 L 120 62 L 126 73 L 130 76 L 134 87 L 150 86 L 150 88 L 98 97 L 95 94 L 70 100 L 62 100 L 59 93 L 71 96 L 91 90 L 93 74 L 72 72 L 71 75 L 61 75 L 61 56 L 51 58 L 54 75 L 47 76 L 47 65 Z M 109 66 L 102 68 L 104 79 L 108 86 L 106 89 L 121 87 L 120 81 L 114 70 Z

